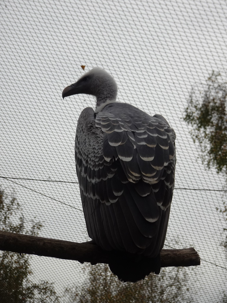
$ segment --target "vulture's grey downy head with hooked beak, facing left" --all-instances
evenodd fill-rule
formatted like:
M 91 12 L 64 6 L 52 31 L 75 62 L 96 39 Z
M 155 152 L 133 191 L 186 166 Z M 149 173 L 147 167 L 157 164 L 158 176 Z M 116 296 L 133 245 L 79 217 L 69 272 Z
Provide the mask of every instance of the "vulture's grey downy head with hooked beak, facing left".
M 77 94 L 93 95 L 97 98 L 97 108 L 115 102 L 117 84 L 113 77 L 104 69 L 95 67 L 83 75 L 76 83 L 67 86 L 62 92 L 62 98 Z

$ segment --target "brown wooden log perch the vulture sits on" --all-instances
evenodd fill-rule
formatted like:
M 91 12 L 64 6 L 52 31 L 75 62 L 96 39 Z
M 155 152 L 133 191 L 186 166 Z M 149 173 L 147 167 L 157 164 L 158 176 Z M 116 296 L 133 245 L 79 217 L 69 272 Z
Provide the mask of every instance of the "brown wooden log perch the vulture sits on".
M 119 257 L 116 252 L 104 251 L 99 246 L 85 243 L 55 240 L 0 231 L 0 250 L 29 255 L 77 260 L 81 263 L 109 263 Z M 200 265 L 200 258 L 194 248 L 163 249 L 161 266 Z

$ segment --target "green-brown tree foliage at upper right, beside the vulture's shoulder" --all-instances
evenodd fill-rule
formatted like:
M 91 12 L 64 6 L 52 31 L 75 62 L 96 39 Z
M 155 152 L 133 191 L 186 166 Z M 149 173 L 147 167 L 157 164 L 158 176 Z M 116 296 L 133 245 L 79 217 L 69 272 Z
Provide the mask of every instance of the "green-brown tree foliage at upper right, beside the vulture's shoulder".
M 202 149 L 208 167 L 227 175 L 227 82 L 212 72 L 206 85 L 195 85 L 190 93 L 184 120 L 192 125 L 194 141 Z

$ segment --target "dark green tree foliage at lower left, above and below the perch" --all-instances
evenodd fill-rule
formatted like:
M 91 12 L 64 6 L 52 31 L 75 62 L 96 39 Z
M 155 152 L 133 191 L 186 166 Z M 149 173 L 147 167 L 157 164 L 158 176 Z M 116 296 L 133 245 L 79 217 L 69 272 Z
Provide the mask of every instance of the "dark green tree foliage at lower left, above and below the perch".
M 38 236 L 42 225 L 31 221 L 27 229 L 20 204 L 12 195 L 0 190 L 0 230 Z M 59 303 L 51 283 L 30 280 L 30 256 L 11 251 L 0 251 L 0 298 L 1 303 Z

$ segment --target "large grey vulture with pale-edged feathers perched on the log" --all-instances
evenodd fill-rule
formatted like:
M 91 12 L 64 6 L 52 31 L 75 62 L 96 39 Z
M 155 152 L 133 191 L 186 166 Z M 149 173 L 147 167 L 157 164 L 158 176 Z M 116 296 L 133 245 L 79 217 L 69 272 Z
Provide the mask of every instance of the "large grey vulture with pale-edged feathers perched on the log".
M 109 267 L 121 281 L 159 274 L 176 165 L 175 132 L 162 115 L 117 102 L 117 84 L 93 68 L 62 97 L 89 94 L 75 139 L 76 171 L 87 231 L 112 251 Z

